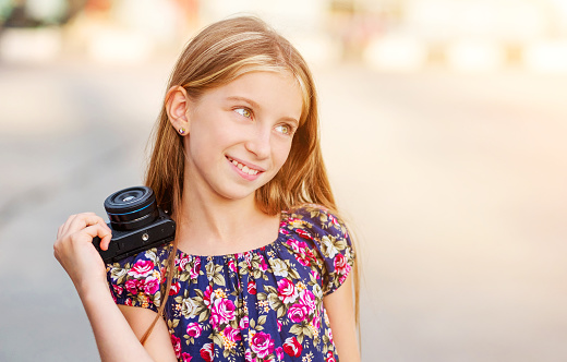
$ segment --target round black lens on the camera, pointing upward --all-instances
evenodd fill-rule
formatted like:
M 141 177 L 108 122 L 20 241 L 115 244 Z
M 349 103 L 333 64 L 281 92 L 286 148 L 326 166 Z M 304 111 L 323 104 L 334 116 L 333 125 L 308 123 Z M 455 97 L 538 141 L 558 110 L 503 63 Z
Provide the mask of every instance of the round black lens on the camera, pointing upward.
M 114 230 L 143 228 L 159 217 L 154 191 L 146 186 L 128 188 L 105 200 L 105 209 Z

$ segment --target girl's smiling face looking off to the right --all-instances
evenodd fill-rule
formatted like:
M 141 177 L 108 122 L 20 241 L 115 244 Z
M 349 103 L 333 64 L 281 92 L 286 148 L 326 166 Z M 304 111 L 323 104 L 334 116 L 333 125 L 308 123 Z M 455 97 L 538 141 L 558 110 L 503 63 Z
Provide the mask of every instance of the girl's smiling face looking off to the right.
M 226 200 L 253 197 L 279 171 L 303 107 L 291 73 L 251 72 L 189 102 L 189 188 Z

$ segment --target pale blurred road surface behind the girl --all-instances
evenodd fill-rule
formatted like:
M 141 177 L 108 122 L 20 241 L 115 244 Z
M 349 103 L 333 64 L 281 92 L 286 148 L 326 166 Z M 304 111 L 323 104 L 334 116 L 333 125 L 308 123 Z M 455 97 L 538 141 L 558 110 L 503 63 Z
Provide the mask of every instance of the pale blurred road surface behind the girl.
M 58 226 L 140 184 L 169 70 L 0 65 L 0 361 L 97 361 Z M 315 71 L 365 361 L 567 360 L 566 76 Z

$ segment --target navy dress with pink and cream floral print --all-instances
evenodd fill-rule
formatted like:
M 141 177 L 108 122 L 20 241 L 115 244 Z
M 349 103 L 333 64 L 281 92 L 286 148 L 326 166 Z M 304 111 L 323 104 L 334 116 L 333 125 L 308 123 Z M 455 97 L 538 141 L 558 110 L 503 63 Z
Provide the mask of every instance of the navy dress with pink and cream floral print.
M 117 304 L 157 312 L 171 245 L 109 264 Z M 337 361 L 323 297 L 354 261 L 345 225 L 321 206 L 282 212 L 270 244 L 221 256 L 178 251 L 165 306 L 179 361 Z

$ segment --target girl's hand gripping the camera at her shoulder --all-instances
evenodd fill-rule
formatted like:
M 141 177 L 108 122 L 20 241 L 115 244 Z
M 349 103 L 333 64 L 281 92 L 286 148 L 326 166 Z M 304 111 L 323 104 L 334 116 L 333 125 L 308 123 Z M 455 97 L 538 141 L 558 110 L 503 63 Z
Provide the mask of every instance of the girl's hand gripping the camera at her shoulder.
M 100 238 L 100 249 L 107 250 L 112 233 L 105 220 L 93 213 L 72 215 L 59 227 L 53 255 L 73 280 L 76 290 L 99 282 L 106 285 L 106 267 L 93 245 Z

